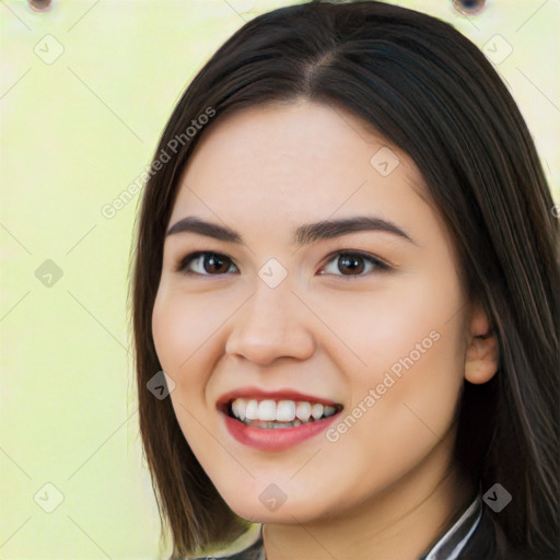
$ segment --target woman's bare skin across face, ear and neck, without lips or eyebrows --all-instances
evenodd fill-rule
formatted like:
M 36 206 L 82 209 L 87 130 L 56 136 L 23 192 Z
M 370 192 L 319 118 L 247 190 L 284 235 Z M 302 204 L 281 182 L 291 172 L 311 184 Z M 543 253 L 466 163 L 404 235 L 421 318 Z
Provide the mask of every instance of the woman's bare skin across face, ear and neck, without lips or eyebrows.
M 382 147 L 399 159 L 387 176 L 370 163 Z M 166 238 L 155 348 L 176 384 L 185 438 L 230 508 L 264 524 L 268 560 L 413 560 L 472 495 L 451 460 L 453 416 L 465 378 L 494 375 L 497 345 L 481 307 L 465 298 L 448 232 L 428 200 L 405 153 L 351 114 L 306 101 L 223 117 L 184 170 L 168 225 L 196 215 L 246 244 Z M 390 220 L 416 244 L 380 231 L 290 242 L 300 224 L 357 214 Z M 200 276 L 176 271 L 195 250 L 230 260 L 191 262 Z M 340 250 L 393 269 L 360 260 L 352 272 Z M 270 258 L 288 272 L 273 289 L 258 276 Z M 252 385 L 330 398 L 346 416 L 432 331 L 438 341 L 336 442 L 323 432 L 285 451 L 255 450 L 217 411 L 221 395 Z M 259 500 L 272 483 L 287 498 L 276 511 Z

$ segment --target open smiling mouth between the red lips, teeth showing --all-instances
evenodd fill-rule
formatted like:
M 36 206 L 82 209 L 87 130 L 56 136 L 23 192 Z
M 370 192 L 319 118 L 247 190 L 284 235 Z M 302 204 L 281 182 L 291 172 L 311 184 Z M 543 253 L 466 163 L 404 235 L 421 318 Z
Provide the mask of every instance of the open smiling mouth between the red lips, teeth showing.
M 222 411 L 248 427 L 282 430 L 318 422 L 340 412 L 342 408 L 342 405 L 306 400 L 235 398 L 228 401 Z

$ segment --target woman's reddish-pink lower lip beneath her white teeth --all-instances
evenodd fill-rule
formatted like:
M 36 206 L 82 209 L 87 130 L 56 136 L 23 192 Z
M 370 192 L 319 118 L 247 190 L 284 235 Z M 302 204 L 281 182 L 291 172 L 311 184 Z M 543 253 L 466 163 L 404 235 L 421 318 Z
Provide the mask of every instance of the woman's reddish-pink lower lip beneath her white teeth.
M 228 431 L 240 443 L 262 451 L 282 451 L 323 432 L 338 418 L 340 412 L 294 428 L 272 428 L 268 430 L 244 424 L 242 421 L 235 420 L 235 418 L 224 412 L 222 413 Z

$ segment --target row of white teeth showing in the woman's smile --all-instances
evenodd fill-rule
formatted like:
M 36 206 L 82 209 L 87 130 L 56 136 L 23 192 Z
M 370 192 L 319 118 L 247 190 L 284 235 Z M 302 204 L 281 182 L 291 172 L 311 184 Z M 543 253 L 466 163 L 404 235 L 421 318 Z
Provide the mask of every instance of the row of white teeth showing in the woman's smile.
M 290 425 L 300 425 L 332 416 L 337 411 L 337 407 L 320 402 L 312 405 L 307 401 L 279 400 L 277 402 L 272 399 L 259 401 L 236 398 L 231 404 L 231 410 L 233 416 L 242 421 L 285 422 L 291 423 Z M 272 428 L 273 424 L 269 423 L 262 427 Z

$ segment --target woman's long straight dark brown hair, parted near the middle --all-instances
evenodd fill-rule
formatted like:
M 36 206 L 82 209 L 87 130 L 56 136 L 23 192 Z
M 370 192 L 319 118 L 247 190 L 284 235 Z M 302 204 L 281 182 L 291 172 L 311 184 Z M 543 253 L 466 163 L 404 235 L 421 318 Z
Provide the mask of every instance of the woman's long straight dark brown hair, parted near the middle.
M 465 382 L 456 460 L 482 489 L 500 482 L 514 495 L 494 516 L 513 546 L 558 553 L 559 224 L 534 143 L 472 43 L 434 18 L 368 1 L 310 2 L 243 25 L 192 80 L 154 154 L 168 161 L 143 192 L 131 305 L 140 431 L 173 558 L 228 545 L 249 527 L 200 467 L 170 399 L 147 388 L 161 370 L 151 318 L 178 178 L 221 116 L 300 97 L 352 112 L 422 173 L 500 349 L 492 381 Z M 186 138 L 209 107 L 215 116 Z

